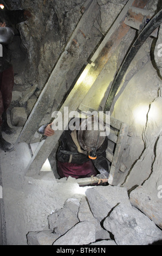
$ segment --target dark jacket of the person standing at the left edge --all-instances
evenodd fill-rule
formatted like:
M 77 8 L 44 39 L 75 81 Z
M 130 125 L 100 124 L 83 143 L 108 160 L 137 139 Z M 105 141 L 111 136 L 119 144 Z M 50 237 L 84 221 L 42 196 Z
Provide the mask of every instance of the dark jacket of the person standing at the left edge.
M 6 10 L 0 8 L 0 23 L 5 22 L 8 27 L 25 21 L 24 10 Z M 3 57 L 0 57 L 0 72 L 11 66 L 11 51 L 9 45 L 3 45 Z

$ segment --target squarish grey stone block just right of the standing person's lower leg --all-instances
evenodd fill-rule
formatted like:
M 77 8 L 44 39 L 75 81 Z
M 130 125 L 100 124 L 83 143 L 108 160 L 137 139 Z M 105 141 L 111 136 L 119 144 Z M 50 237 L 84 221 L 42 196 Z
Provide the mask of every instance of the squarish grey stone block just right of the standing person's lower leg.
M 27 113 L 23 107 L 14 107 L 11 110 L 11 123 L 14 126 L 23 126 L 27 121 Z

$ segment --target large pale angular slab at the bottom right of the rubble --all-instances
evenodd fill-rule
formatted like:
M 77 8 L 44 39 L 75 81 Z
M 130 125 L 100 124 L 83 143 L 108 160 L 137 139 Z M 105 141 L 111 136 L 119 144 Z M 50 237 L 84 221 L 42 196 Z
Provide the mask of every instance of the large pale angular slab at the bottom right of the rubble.
M 119 204 L 103 222 L 117 245 L 149 245 L 162 239 L 162 231 L 133 206 Z

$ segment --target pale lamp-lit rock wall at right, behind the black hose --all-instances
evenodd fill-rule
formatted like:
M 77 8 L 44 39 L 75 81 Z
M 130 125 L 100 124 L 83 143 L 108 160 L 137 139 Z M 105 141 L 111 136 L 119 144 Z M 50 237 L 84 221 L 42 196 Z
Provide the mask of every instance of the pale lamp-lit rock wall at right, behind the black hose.
M 158 11 L 159 8 L 158 1 L 150 1 L 145 9 Z M 132 29 L 121 41 L 118 50 L 83 100 L 85 105 L 88 102 L 94 109 L 98 106 L 103 109 L 116 70 L 119 69 L 134 36 L 135 31 Z M 155 161 L 157 157 L 161 158 L 161 153 L 157 151 L 161 136 L 160 40 L 161 29 L 158 40 L 150 37 L 142 45 L 128 67 L 111 108 L 112 117 L 129 125 L 131 136 L 128 137 L 122 159 L 128 172 L 121 174 L 119 182 L 127 186 L 128 190 L 143 184 L 153 172 L 157 172 Z M 158 174 L 157 179 L 161 179 Z M 157 193 L 158 191 L 156 196 Z

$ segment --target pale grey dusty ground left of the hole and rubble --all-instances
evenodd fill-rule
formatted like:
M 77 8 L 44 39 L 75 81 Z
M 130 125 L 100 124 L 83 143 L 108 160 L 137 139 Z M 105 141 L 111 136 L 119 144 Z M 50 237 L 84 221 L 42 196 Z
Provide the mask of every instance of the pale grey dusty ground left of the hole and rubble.
M 3 134 L 14 143 L 21 127 L 14 127 L 15 135 Z M 8 245 L 27 245 L 29 231 L 48 229 L 47 217 L 61 209 L 67 198 L 81 198 L 85 193 L 76 183 L 56 180 L 53 172 L 41 172 L 39 179 L 25 176 L 31 159 L 28 145 L 21 143 L 14 151 L 1 150 L 3 200 Z

